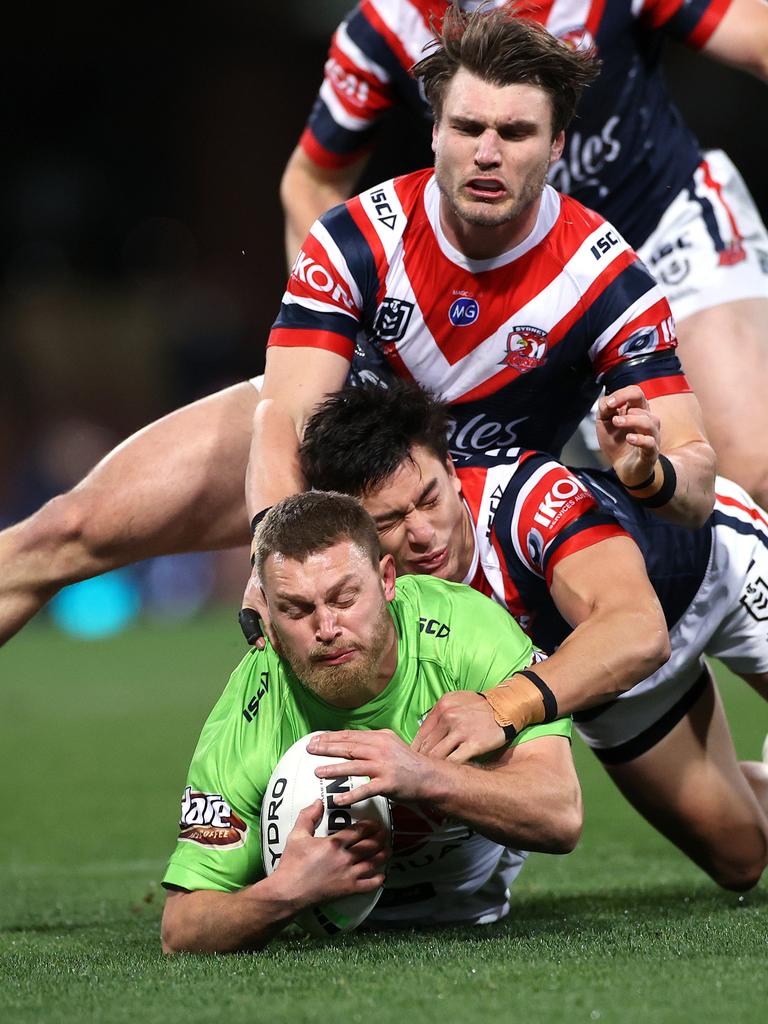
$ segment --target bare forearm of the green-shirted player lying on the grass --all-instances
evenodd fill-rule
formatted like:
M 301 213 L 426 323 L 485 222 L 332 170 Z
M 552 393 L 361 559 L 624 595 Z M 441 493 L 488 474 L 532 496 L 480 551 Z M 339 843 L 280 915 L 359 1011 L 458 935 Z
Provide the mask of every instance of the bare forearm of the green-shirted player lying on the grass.
M 278 872 L 237 893 L 173 893 L 163 913 L 163 952 L 262 949 L 300 909 L 285 892 Z

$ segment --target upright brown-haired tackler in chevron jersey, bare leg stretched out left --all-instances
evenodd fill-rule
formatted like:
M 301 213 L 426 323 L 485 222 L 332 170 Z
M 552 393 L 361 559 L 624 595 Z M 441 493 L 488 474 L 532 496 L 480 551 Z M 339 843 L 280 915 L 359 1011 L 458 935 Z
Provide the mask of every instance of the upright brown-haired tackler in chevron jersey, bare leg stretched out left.
M 436 173 L 327 214 L 296 262 L 269 341 L 250 515 L 302 488 L 304 419 L 352 365 L 451 400 L 452 450 L 467 461 L 523 442 L 557 454 L 605 385 L 622 480 L 660 514 L 702 522 L 714 455 L 666 299 L 609 224 L 544 183 L 596 65 L 503 11 L 468 24 L 449 24 L 419 68 L 440 112 Z M 66 583 L 243 543 L 255 404 L 242 384 L 172 414 L 1 535 L 0 642 Z

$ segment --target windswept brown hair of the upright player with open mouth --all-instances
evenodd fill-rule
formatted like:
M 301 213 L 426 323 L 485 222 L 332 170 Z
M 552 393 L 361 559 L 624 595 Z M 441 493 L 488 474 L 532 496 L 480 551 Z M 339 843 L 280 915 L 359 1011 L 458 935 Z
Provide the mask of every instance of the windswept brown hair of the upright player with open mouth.
M 411 69 L 434 111 L 442 114 L 445 89 L 460 68 L 492 85 L 538 85 L 552 100 L 552 137 L 567 128 L 582 92 L 598 75 L 592 50 L 571 49 L 543 26 L 515 15 L 515 4 L 467 12 L 456 2 L 442 28 L 434 25 L 435 49 Z

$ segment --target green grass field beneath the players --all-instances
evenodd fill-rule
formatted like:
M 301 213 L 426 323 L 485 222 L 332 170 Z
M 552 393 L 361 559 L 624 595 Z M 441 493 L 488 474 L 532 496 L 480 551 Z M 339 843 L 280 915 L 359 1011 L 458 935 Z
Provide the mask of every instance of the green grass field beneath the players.
M 587 823 L 485 929 L 298 937 L 164 958 L 159 888 L 188 759 L 243 653 L 232 616 L 0 651 L 0 1021 L 765 1024 L 768 888 L 717 889 L 577 750 Z M 722 679 L 736 746 L 768 714 Z

